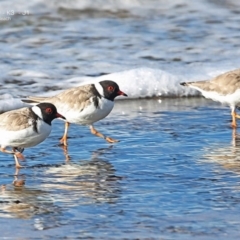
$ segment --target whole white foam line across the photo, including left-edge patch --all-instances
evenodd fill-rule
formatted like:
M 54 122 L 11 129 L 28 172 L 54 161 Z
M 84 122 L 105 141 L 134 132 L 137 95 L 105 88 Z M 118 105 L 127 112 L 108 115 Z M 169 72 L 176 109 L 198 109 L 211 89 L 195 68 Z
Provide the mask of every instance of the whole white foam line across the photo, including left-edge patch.
M 206 70 L 206 69 L 205 69 Z M 208 69 L 209 70 L 209 69 Z M 230 70 L 230 69 L 229 69 Z M 65 81 L 60 81 L 54 83 L 62 90 L 76 87 L 88 83 L 94 83 L 101 80 L 113 80 L 118 83 L 120 89 L 128 95 L 126 97 L 118 97 L 121 99 L 139 99 L 139 98 L 166 98 L 166 97 L 198 97 L 201 94 L 188 87 L 183 87 L 179 83 L 185 81 L 197 81 L 203 79 L 210 79 L 224 71 L 220 70 L 209 70 L 206 74 L 199 74 L 197 72 L 189 72 L 187 75 L 171 74 L 169 72 L 152 69 L 152 68 L 136 68 L 131 70 L 126 70 L 122 72 L 116 72 L 112 74 L 102 75 L 100 77 L 75 77 L 67 79 Z M 31 76 L 36 75 L 35 72 L 26 72 L 24 75 Z M 42 77 L 41 73 L 37 73 L 38 77 Z M 40 80 L 39 80 L 40 81 Z M 44 79 L 42 84 L 46 84 L 47 79 Z M 50 82 L 51 80 L 49 80 Z M 62 90 L 42 92 L 41 82 L 38 83 L 39 93 L 35 95 L 40 96 L 52 96 Z M 34 89 L 36 90 L 36 89 Z M 31 93 L 29 93 L 31 95 Z M 21 102 L 20 97 L 12 96 L 10 94 L 4 94 L 0 98 L 0 112 L 8 111 L 15 108 L 20 108 L 26 106 Z

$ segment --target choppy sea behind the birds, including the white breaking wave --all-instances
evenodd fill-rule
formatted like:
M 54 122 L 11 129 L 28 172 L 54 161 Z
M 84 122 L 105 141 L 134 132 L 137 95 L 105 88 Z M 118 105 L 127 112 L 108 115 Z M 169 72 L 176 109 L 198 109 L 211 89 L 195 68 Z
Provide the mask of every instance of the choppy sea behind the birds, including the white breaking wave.
M 0 111 L 22 107 L 23 96 L 54 95 L 104 79 L 116 81 L 129 96 L 117 99 L 199 96 L 179 83 L 210 79 L 239 67 L 240 18 L 232 12 L 237 3 L 224 2 L 229 4 L 3 0 L 1 14 L 12 9 L 15 15 L 1 29 L 0 94 L 7 94 L 0 99 Z M 25 10 L 30 14 L 23 17 Z M 103 13 L 91 17 L 91 11 Z M 108 18 L 108 12 L 116 13 L 116 19 Z M 122 13 L 127 13 L 126 19 Z M 61 21 L 50 27 L 56 15 Z

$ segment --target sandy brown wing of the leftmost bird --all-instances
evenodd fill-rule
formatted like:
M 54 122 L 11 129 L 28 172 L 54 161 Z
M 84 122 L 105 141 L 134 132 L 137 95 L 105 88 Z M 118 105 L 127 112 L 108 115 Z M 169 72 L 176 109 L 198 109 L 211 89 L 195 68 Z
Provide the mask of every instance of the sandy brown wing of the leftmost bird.
M 31 112 L 29 108 L 21 108 L 0 114 L 0 129 L 8 131 L 18 131 L 33 125 L 29 118 Z

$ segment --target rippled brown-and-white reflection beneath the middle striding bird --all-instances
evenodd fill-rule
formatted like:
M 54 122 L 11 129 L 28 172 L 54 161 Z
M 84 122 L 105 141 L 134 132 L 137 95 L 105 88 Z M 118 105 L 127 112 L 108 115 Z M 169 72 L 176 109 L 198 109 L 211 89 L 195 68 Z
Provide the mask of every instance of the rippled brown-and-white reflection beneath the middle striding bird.
M 78 201 L 116 202 L 120 194 L 121 177 L 115 175 L 115 169 L 110 162 L 100 158 L 111 148 L 112 146 L 98 149 L 92 153 L 90 160 L 80 159 L 79 163 L 71 162 L 71 156 L 65 148 L 66 164 L 48 168 L 42 187 L 57 190 L 58 201 L 68 202 L 71 206 L 78 204 Z M 64 194 L 60 195 L 59 191 L 64 191 Z

